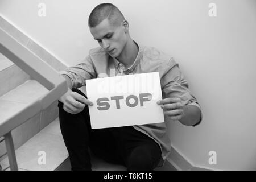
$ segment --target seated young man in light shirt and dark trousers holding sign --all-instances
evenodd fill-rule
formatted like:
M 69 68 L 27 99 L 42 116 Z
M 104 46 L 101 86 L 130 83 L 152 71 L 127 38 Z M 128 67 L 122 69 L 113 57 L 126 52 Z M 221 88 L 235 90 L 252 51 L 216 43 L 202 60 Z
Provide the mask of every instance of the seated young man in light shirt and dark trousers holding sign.
M 129 23 L 110 3 L 95 7 L 89 16 L 92 36 L 100 44 L 76 67 L 62 71 L 69 90 L 59 99 L 60 128 L 71 160 L 72 170 L 90 170 L 90 150 L 127 170 L 152 170 L 170 154 L 170 139 L 165 123 L 92 130 L 88 105 L 93 103 L 77 88 L 101 73 L 159 72 L 165 122 L 180 121 L 195 126 L 201 121 L 200 106 L 175 60 L 155 48 L 134 42 Z M 123 117 L 133 117 L 123 115 Z M 104 122 L 104 118 L 102 118 Z

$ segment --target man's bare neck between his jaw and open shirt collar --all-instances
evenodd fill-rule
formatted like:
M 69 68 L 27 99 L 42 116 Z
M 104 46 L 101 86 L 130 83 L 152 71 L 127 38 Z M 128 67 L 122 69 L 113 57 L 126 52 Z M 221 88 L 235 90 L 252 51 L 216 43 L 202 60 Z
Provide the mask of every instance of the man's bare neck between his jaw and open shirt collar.
M 138 46 L 130 38 L 128 39 L 125 47 L 123 48 L 122 53 L 117 57 L 117 60 L 120 63 L 123 63 L 125 65 L 125 68 L 129 68 L 131 65 L 133 65 L 138 55 L 138 52 Z

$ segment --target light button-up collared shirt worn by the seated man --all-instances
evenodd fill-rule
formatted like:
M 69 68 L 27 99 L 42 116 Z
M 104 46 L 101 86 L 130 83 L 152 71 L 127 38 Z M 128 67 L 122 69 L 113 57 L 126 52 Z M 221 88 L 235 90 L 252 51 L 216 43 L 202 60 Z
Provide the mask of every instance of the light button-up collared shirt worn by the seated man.
M 102 74 L 111 76 L 113 69 L 115 75 L 120 75 L 120 73 L 129 75 L 159 72 L 163 99 L 179 97 L 183 105 L 195 105 L 200 108 L 196 97 L 188 89 L 188 82 L 181 73 L 179 64 L 176 63 L 173 57 L 153 47 L 142 45 L 138 45 L 138 47 L 137 58 L 129 69 L 124 70 L 122 63 L 113 59 L 104 49 L 99 47 L 92 49 L 80 64 L 69 67 L 65 71 L 61 71 L 60 74 L 70 78 L 72 88 L 80 88 L 85 86 L 85 80 L 101 77 Z M 141 131 L 159 144 L 163 159 L 159 166 L 162 166 L 171 150 L 171 142 L 166 127 L 166 122 L 169 122 L 169 119 L 164 117 L 164 121 L 164 123 L 133 126 L 134 129 Z

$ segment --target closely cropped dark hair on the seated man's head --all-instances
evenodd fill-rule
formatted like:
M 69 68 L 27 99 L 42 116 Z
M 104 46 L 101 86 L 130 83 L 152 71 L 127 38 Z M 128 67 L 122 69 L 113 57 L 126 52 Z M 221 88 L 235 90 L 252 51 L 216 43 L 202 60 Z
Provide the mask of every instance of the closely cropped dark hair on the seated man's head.
M 113 26 L 121 26 L 125 17 L 121 11 L 112 3 L 102 3 L 96 6 L 89 16 L 89 27 L 94 28 L 103 20 L 108 19 Z

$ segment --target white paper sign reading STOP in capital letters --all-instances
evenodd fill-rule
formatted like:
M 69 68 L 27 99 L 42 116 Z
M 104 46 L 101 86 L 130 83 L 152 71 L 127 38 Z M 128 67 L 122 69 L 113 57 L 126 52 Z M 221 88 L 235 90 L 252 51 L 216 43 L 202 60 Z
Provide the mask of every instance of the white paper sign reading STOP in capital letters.
M 92 129 L 164 122 L 159 73 L 86 80 Z

